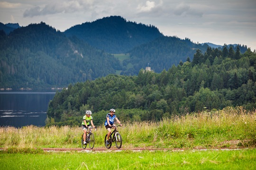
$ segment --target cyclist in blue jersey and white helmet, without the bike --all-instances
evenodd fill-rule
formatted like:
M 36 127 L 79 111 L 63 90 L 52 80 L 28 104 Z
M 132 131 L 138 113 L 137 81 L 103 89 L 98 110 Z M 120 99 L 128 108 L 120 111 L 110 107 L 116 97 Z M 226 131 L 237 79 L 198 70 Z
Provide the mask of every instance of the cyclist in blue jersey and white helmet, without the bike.
M 120 126 L 123 126 L 117 116 L 115 115 L 116 110 L 110 109 L 110 113 L 107 114 L 106 116 L 106 121 L 104 123 L 106 129 L 109 131 L 108 136 L 107 136 L 107 144 L 109 144 L 109 138 L 111 134 L 111 128 L 115 128 L 114 120 L 117 120 L 117 122 L 120 124 Z

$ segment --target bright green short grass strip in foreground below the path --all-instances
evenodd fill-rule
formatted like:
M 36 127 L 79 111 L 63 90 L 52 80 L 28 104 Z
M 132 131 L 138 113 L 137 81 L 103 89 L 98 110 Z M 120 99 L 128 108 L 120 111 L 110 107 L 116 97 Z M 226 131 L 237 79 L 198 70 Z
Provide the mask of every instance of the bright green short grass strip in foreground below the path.
M 2 170 L 255 170 L 256 149 L 8 153 Z

